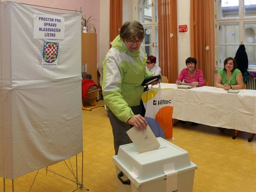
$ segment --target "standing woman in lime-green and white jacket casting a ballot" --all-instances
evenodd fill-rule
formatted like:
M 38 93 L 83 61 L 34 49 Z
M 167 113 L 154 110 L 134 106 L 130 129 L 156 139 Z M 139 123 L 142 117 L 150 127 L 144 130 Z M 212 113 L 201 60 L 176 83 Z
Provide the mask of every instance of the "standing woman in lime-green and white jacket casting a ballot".
M 116 155 L 120 145 L 131 142 L 126 131 L 132 126 L 140 131 L 147 127 L 146 119 L 141 116 L 141 83 L 152 73 L 146 70 L 147 54 L 141 45 L 143 39 L 144 28 L 140 22 L 126 21 L 103 61 L 102 91 Z

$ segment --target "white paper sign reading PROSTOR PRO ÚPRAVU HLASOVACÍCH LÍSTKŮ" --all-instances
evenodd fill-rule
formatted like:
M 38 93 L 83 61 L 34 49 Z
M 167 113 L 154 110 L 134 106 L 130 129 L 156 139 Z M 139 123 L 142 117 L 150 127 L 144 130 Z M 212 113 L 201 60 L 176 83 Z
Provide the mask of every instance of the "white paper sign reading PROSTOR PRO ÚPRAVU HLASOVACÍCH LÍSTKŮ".
M 64 39 L 64 23 L 63 17 L 34 14 L 34 38 Z

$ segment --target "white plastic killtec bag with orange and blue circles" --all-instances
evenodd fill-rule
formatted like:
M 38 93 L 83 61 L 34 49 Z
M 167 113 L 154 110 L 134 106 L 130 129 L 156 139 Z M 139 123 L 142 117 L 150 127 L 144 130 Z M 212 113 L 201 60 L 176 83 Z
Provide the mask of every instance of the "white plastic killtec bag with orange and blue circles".
M 146 109 L 145 119 L 156 137 L 172 139 L 173 89 L 158 89 L 151 87 L 142 94 Z

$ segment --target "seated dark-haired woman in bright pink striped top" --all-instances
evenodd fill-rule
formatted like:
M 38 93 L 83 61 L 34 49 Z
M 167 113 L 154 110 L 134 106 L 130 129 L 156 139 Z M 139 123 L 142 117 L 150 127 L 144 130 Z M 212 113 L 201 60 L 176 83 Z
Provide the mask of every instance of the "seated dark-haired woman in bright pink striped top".
M 189 57 L 186 59 L 186 65 L 187 68 L 181 70 L 176 84 L 180 85 L 184 79 L 184 82 L 191 86 L 204 86 L 204 74 L 200 69 L 196 68 L 196 58 Z

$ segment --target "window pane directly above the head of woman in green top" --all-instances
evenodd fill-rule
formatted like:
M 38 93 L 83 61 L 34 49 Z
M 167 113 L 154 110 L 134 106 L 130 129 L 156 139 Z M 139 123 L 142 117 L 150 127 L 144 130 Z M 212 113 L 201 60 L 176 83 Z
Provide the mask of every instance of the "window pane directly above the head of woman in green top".
M 239 45 L 219 45 L 220 66 L 224 66 L 224 60 L 227 57 L 234 58 L 236 56 L 236 51 L 238 47 Z

